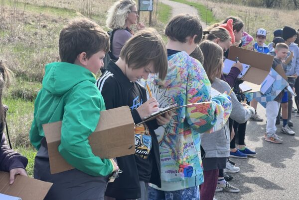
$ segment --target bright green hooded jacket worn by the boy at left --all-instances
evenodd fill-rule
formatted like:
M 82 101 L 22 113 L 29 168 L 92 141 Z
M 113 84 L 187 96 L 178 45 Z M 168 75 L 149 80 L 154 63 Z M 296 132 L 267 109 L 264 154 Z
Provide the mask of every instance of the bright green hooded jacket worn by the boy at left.
M 96 79 L 88 69 L 69 63 L 51 63 L 45 67 L 42 88 L 34 104 L 34 119 L 29 133 L 38 150 L 44 137 L 43 124 L 62 121 L 58 151 L 76 169 L 91 176 L 107 176 L 113 165 L 92 153 L 88 142 L 105 110 Z

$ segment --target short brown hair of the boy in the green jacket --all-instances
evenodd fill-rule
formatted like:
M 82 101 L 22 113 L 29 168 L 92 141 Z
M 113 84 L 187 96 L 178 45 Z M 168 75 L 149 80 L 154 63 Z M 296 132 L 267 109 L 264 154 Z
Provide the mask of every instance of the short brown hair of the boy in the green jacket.
M 77 56 L 86 52 L 89 59 L 99 51 L 110 49 L 109 36 L 95 22 L 86 18 L 70 21 L 59 35 L 59 56 L 61 62 L 74 63 Z

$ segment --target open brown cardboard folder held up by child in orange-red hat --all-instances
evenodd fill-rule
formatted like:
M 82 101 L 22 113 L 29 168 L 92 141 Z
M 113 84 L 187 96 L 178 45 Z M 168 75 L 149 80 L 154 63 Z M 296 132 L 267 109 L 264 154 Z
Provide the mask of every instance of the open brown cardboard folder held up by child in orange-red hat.
M 274 59 L 271 55 L 232 46 L 229 48 L 228 59 L 235 61 L 237 57 L 240 63 L 251 66 L 241 79 L 257 85 L 269 74 Z

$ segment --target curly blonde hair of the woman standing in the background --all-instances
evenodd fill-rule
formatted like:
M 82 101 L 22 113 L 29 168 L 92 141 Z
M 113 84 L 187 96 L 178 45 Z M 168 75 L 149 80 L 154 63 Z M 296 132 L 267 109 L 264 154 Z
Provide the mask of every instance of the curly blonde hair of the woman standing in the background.
M 135 5 L 135 0 L 120 0 L 115 2 L 108 10 L 106 26 L 111 29 L 126 28 L 126 19 Z

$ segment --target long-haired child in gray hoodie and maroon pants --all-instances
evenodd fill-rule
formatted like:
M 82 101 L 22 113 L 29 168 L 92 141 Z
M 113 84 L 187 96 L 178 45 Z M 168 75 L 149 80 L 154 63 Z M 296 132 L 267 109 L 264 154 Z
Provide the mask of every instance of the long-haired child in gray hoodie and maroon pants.
M 231 87 L 225 81 L 219 79 L 222 73 L 222 49 L 210 41 L 200 43 L 199 47 L 204 55 L 204 69 L 212 83 L 212 87 L 217 91 L 224 93 L 231 90 Z M 238 123 L 245 123 L 251 117 L 255 110 L 252 107 L 245 108 L 237 99 L 235 93 L 231 94 L 232 112 L 230 118 Z M 227 158 L 229 157 L 230 146 L 229 123 L 225 124 L 220 131 L 213 134 L 201 134 L 201 144 L 205 150 L 206 156 L 202 161 L 204 183 L 200 186 L 200 198 L 203 200 L 213 200 L 217 186 L 227 192 L 239 192 L 240 190 L 231 186 L 223 178 L 218 180 L 219 168 L 226 167 Z

